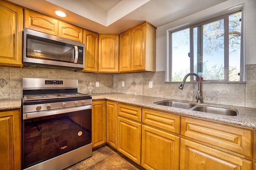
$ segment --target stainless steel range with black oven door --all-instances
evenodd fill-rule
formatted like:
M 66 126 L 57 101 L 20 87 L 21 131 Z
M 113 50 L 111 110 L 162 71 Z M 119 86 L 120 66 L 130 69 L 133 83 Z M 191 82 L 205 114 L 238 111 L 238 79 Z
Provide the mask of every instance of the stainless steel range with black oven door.
M 22 168 L 62 170 L 92 156 L 92 97 L 78 80 L 23 78 Z

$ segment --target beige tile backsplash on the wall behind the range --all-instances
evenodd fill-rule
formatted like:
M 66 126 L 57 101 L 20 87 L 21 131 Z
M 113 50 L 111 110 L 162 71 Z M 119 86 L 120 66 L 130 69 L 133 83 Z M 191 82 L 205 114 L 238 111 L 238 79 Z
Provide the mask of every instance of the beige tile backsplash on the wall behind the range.
M 87 93 L 86 81 L 100 82 L 95 93 L 110 93 L 113 90 L 111 74 L 74 72 L 44 68 L 8 68 L 0 67 L 0 99 L 22 98 L 22 78 L 64 78 L 78 79 L 78 92 Z

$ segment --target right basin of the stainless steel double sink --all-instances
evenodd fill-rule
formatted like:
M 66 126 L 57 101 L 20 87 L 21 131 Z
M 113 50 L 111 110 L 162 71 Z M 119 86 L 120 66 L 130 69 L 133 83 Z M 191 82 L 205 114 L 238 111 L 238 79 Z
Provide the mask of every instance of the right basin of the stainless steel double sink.
M 225 108 L 218 108 L 218 107 L 210 107 L 210 106 L 197 106 L 194 111 L 202 111 L 206 113 L 214 113 L 219 115 L 227 115 L 227 116 L 236 116 L 238 115 L 237 111 Z

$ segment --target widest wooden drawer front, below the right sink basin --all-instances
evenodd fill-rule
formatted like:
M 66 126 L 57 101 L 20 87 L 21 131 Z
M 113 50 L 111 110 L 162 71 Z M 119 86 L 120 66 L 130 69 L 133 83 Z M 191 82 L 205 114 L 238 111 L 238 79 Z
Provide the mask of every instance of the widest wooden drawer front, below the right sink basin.
M 252 158 L 252 130 L 182 117 L 180 134 Z

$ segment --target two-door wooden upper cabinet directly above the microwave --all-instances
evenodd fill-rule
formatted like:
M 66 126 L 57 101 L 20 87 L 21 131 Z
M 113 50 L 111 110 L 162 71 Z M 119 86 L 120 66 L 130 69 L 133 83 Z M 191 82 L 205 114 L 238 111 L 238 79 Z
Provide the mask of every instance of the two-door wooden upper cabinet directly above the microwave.
M 83 42 L 82 28 L 27 9 L 24 25 L 28 29 Z

